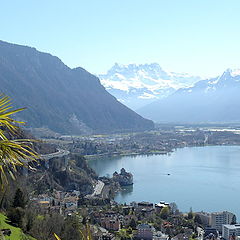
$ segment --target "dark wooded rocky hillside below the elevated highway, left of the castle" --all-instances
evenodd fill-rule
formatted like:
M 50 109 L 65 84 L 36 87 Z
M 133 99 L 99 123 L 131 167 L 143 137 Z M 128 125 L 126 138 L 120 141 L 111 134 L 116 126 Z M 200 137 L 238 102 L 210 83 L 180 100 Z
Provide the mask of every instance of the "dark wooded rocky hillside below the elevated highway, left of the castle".
M 73 154 L 50 159 L 48 168 L 44 161 L 36 168 L 36 172 L 29 172 L 27 185 L 38 194 L 49 189 L 78 190 L 83 195 L 91 194 L 93 182 L 97 179 L 96 173 L 88 166 L 85 158 Z

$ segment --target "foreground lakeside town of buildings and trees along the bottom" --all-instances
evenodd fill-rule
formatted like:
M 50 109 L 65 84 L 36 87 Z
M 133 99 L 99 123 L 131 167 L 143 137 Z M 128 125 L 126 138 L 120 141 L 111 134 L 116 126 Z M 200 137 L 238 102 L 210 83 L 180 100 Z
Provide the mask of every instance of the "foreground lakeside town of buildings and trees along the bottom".
M 95 200 L 100 196 L 96 195 Z M 102 198 L 101 198 L 102 199 Z M 228 212 L 181 213 L 176 203 L 89 201 L 78 191 L 54 191 L 31 201 L 42 214 L 59 213 L 66 218 L 78 216 L 90 226 L 93 239 L 237 239 L 240 225 L 236 215 Z

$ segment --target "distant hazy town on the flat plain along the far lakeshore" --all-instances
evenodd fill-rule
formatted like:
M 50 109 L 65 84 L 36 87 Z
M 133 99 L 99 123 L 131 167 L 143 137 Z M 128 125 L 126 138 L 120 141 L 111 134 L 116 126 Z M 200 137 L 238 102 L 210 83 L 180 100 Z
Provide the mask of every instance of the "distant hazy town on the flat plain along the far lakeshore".
M 85 136 L 61 136 L 47 129 L 31 131 L 47 143 L 86 158 L 166 154 L 187 146 L 240 144 L 238 125 L 160 125 L 153 131 Z

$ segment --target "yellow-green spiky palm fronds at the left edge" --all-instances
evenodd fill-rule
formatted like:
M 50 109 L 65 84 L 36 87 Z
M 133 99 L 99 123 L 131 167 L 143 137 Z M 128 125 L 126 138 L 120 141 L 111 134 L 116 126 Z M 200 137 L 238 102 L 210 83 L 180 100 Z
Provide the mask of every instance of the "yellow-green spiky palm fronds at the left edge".
M 19 125 L 12 115 L 24 110 L 13 110 L 8 96 L 0 94 L 0 185 L 3 188 L 8 183 L 8 176 L 13 179 L 18 166 L 27 167 L 29 162 L 36 161 L 38 154 L 32 149 L 33 140 L 14 139 L 18 135 Z

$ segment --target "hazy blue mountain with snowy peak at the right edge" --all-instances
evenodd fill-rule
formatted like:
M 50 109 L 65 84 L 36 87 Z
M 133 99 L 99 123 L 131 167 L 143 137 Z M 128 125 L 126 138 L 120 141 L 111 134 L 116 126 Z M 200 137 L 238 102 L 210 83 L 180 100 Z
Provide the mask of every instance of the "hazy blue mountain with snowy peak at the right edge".
M 240 70 L 179 89 L 138 112 L 157 122 L 240 122 Z

